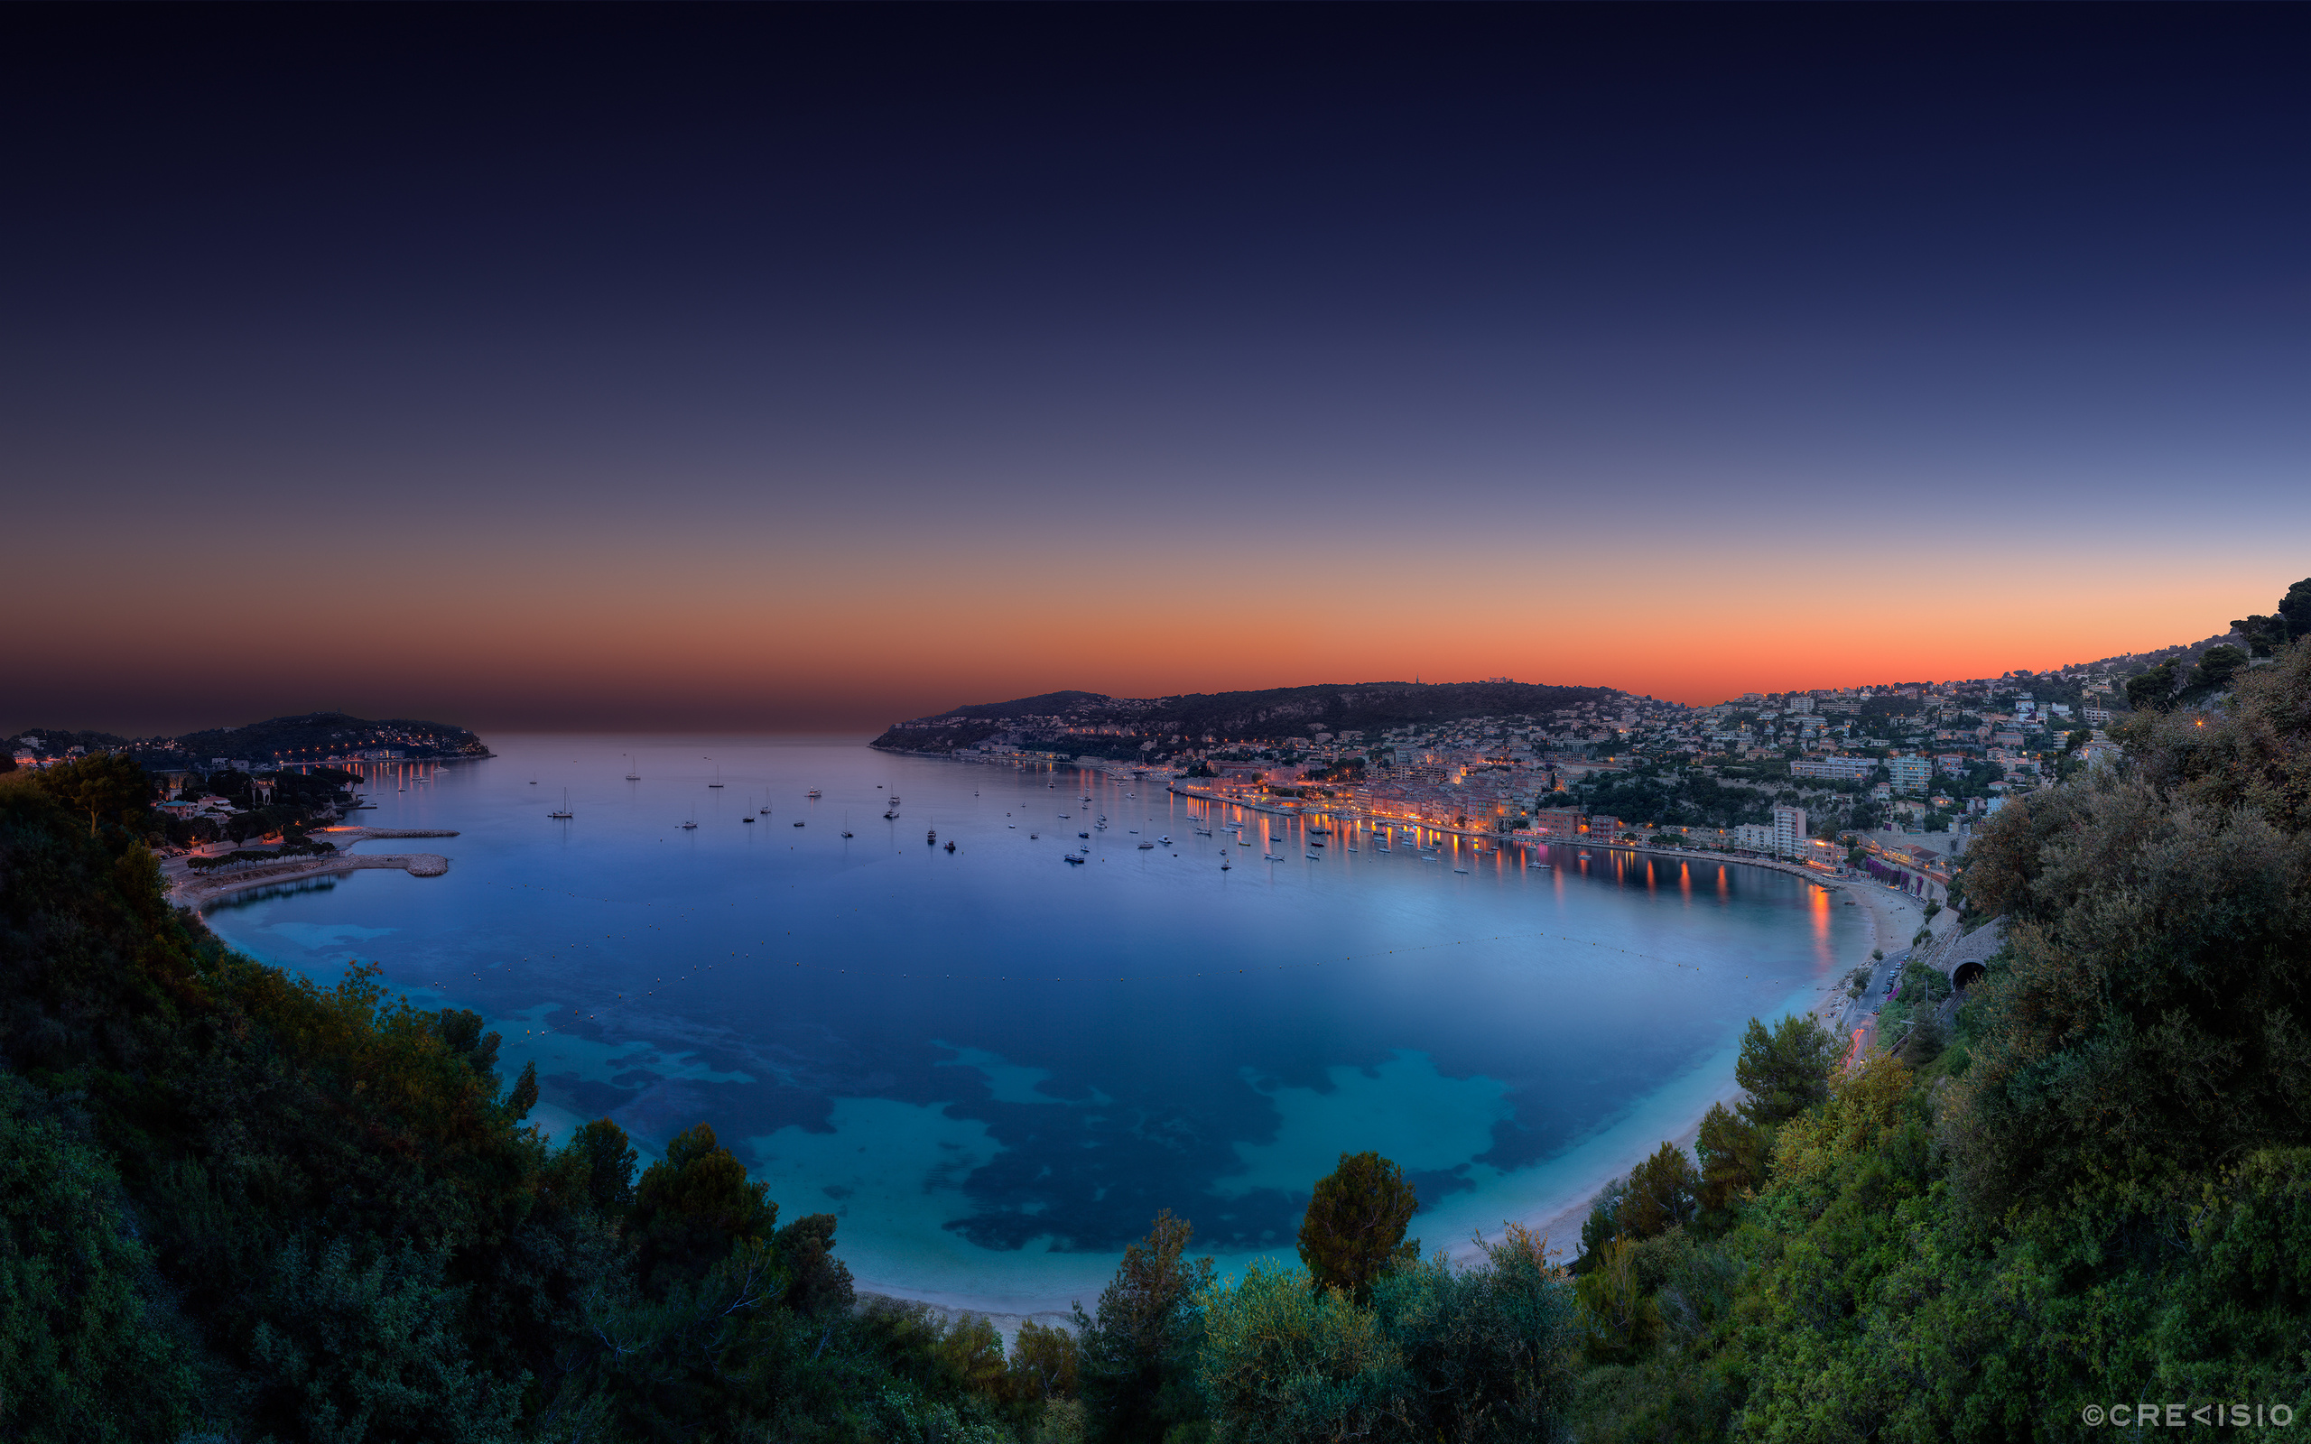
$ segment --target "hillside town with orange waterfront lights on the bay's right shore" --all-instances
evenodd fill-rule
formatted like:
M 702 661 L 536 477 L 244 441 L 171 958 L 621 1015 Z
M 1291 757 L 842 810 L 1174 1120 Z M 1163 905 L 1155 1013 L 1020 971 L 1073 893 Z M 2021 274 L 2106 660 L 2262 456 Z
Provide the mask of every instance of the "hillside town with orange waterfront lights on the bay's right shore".
M 2108 728 L 2133 709 L 2131 684 L 2138 698 L 2142 679 L 2163 695 L 2212 691 L 2262 665 L 2267 647 L 2256 642 L 2253 626 L 2235 626 L 2189 647 L 2054 672 L 1742 693 L 1710 707 L 1509 677 L 1394 684 L 1396 712 L 1426 702 L 1435 714 L 1400 725 L 1345 725 L 1373 709 L 1375 684 L 1333 688 L 1329 707 L 1306 695 L 1324 688 L 1292 688 L 1250 707 L 1255 721 L 1234 730 L 1183 725 L 1197 698 L 1054 693 L 899 723 L 878 746 L 1098 767 L 1257 811 L 1502 843 L 1673 848 L 1860 871 L 1939 899 L 1983 818 L 2117 753 Z M 1530 709 L 1507 709 L 1518 702 Z M 1310 712 L 1317 721 L 1301 721 Z

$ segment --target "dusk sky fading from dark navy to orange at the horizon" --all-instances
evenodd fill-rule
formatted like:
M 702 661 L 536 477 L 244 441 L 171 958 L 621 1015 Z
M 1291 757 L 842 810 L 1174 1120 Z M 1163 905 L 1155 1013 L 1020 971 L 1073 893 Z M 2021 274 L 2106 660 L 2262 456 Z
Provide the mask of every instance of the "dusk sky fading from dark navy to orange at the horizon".
M 1742 691 L 2311 573 L 2293 7 L 9 7 L 0 725 Z

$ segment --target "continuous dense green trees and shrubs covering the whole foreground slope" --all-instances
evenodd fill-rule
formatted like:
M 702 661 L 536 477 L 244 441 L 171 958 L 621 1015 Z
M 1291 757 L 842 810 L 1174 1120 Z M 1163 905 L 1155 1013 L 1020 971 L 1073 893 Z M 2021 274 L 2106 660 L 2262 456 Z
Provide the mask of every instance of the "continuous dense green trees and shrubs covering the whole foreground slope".
M 469 1012 L 321 989 L 171 913 L 104 765 L 0 776 L 0 1439 L 2091 1439 L 2311 1426 L 2311 645 L 2004 809 L 2006 950 L 1895 1054 L 1752 1024 L 1747 1097 L 1608 1190 L 1574 1268 L 1405 1245 L 1315 1185 L 1301 1268 L 1160 1215 L 1075 1328 L 857 1301 L 712 1130 L 638 1171 L 525 1125 Z M 113 783 L 122 783 L 113 788 Z M 1890 1037 L 1888 1037 L 1890 1042 Z M 2256 1437 L 2258 1426 L 2230 1437 Z M 2279 1430 L 2260 1430 L 2290 1437 Z M 2121 1437 L 2126 1437 L 2121 1432 Z

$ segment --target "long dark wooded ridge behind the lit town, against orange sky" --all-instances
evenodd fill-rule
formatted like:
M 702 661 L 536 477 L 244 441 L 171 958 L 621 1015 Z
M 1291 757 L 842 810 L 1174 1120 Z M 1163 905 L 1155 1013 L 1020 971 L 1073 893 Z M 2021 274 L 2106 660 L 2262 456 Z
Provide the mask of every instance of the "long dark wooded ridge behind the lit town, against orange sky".
M 1109 698 L 1091 691 L 1054 691 L 1010 702 L 971 702 L 892 725 L 874 739 L 890 751 L 952 753 L 998 732 L 1068 739 L 1079 751 L 1100 751 L 1075 728 L 1121 728 L 1139 739 L 1218 737 L 1269 739 L 1313 732 L 1377 732 L 1463 716 L 1546 716 L 1585 702 L 1620 700 L 1611 686 L 1539 686 L 1530 682 L 1324 682 L 1317 686 L 1269 686 L 1262 691 L 1186 693 L 1176 698 Z

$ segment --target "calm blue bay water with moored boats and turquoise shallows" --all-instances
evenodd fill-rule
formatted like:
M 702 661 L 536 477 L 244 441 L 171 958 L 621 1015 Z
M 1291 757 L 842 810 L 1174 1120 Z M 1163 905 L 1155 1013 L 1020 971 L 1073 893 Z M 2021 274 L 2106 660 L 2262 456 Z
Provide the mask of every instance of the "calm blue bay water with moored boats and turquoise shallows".
M 1088 1303 L 1158 1208 L 1223 1264 L 1290 1257 L 1343 1151 L 1405 1164 L 1431 1248 L 1525 1218 L 1680 1132 L 1742 1024 L 1803 1010 L 1860 926 L 1763 869 L 1424 862 L 1257 813 L 1234 848 L 1160 786 L 855 739 L 492 744 L 358 813 L 460 829 L 367 843 L 448 876 L 351 873 L 213 926 L 483 1012 L 555 1132 L 707 1121 L 783 1218 L 841 1215 L 862 1285 L 982 1308 Z M 564 788 L 575 818 L 548 820 Z

